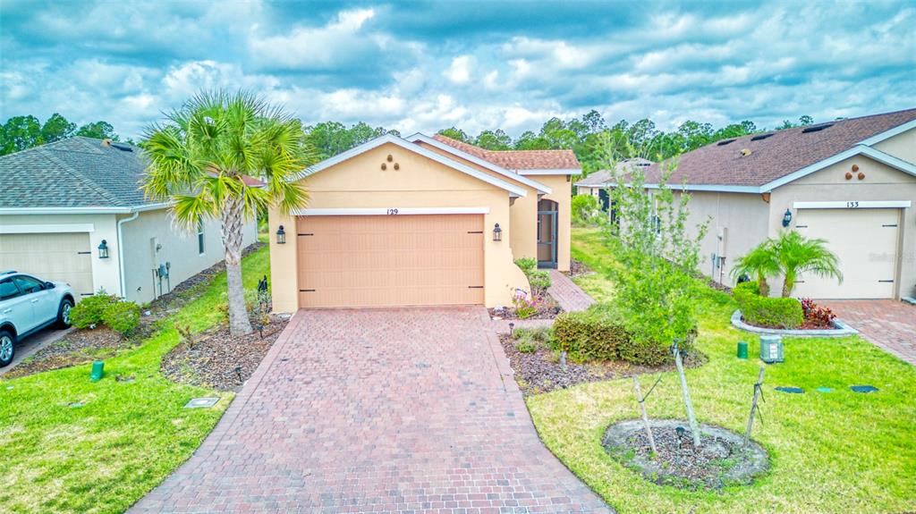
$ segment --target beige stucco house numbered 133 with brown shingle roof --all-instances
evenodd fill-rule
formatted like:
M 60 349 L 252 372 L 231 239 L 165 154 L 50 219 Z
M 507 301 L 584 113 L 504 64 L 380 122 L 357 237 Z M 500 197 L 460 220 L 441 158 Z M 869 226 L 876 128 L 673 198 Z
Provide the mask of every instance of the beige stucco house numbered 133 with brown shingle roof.
M 646 170 L 658 187 L 659 165 Z M 710 221 L 702 270 L 722 284 L 736 257 L 798 230 L 827 241 L 844 280 L 802 276 L 794 294 L 916 295 L 916 109 L 719 141 L 681 155 L 671 184 L 690 192 L 691 226 Z

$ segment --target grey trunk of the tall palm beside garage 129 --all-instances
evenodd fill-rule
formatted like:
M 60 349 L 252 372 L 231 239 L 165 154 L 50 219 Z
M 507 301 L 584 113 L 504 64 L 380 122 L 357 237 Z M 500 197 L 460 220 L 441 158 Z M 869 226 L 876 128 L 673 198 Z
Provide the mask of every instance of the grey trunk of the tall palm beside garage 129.
M 229 333 L 243 336 L 251 333 L 251 321 L 245 308 L 245 286 L 242 284 L 242 205 L 232 198 L 220 213 L 225 246 L 226 285 L 229 296 Z

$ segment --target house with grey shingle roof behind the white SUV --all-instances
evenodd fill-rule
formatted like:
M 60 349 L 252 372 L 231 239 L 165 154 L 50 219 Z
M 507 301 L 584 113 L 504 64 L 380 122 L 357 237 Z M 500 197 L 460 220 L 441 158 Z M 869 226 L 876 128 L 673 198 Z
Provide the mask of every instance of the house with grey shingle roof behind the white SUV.
M 219 222 L 175 227 L 139 189 L 145 167 L 140 148 L 88 137 L 0 157 L 0 270 L 143 304 L 222 261 Z M 251 221 L 245 244 L 256 239 Z

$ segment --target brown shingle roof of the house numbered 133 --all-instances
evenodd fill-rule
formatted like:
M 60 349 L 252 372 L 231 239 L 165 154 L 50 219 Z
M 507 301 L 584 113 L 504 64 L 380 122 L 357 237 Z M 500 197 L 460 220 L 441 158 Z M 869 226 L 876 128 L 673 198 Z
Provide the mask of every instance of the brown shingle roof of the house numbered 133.
M 678 157 L 671 183 L 763 186 L 914 119 L 916 109 L 909 109 L 719 141 Z M 811 132 L 819 126 L 826 128 Z M 660 165 L 647 168 L 647 182 L 659 177 Z

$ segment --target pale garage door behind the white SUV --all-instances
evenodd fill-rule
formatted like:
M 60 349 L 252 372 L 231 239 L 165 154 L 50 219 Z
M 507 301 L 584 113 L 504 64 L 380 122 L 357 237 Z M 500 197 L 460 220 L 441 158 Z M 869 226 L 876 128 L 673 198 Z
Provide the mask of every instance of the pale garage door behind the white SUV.
M 34 274 L 71 284 L 77 301 L 93 294 L 93 254 L 89 234 L 2 234 L 0 270 Z

